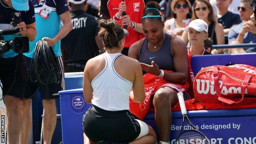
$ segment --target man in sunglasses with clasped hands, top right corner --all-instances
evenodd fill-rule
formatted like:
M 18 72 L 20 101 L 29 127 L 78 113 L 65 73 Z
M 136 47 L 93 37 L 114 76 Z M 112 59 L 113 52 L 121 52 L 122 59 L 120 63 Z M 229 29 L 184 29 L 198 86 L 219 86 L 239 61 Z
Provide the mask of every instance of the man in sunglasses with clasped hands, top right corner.
M 238 7 L 242 23 L 231 27 L 229 31 L 229 44 L 256 43 L 256 26 L 251 21 L 250 16 L 254 13 L 249 6 L 250 0 L 241 0 Z M 230 48 L 229 53 L 252 53 L 256 48 Z

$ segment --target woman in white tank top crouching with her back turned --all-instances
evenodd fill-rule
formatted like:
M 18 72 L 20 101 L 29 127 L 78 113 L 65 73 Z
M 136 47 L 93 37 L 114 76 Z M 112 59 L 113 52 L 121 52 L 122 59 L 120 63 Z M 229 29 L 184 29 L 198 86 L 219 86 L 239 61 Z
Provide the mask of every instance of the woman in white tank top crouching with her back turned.
M 84 97 L 92 103 L 83 118 L 85 144 L 155 144 L 153 128 L 129 112 L 131 88 L 137 103 L 145 91 L 139 62 L 121 54 L 128 32 L 110 20 L 101 20 L 99 26 L 105 53 L 89 59 L 84 71 Z

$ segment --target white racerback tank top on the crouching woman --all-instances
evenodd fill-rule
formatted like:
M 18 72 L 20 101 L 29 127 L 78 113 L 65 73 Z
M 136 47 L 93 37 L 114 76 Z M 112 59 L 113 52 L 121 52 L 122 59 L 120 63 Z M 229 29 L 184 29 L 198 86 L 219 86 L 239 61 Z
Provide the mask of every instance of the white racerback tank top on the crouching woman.
M 122 54 L 104 53 L 105 67 L 91 81 L 91 87 L 93 88 L 91 103 L 103 110 L 130 110 L 129 94 L 133 82 L 122 78 L 114 69 L 114 62 L 120 55 Z

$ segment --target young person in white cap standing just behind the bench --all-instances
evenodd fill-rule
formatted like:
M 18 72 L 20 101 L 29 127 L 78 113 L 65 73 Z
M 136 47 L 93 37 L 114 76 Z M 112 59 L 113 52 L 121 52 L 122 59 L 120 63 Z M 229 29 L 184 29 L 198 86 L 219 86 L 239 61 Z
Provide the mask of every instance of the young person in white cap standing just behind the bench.
M 191 44 L 187 49 L 188 54 L 211 55 L 204 47 L 204 41 L 208 39 L 208 25 L 205 21 L 195 19 L 190 22 L 185 31 L 188 33 L 188 40 Z

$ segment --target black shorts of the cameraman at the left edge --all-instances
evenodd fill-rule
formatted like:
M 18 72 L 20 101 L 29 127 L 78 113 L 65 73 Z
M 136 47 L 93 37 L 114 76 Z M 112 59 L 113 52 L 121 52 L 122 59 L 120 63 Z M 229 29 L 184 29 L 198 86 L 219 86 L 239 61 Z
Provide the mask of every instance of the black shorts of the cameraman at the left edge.
M 3 96 L 23 98 L 28 80 L 26 60 L 19 54 L 12 58 L 0 58 L 0 79 L 3 86 Z

